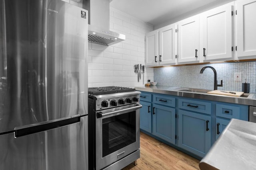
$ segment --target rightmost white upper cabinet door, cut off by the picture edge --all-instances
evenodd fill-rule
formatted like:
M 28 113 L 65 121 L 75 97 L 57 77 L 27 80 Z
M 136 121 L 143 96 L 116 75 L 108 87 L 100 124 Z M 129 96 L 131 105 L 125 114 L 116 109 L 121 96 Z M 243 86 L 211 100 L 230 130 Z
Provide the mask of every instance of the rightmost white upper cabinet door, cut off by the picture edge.
M 237 56 L 256 58 L 256 0 L 237 1 Z

